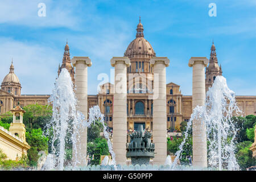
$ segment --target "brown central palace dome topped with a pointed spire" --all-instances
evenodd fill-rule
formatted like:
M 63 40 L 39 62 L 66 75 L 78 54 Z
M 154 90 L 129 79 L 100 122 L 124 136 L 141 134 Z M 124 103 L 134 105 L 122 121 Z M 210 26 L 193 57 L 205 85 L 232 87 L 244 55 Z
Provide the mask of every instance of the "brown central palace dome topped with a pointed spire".
M 155 56 L 155 51 L 151 44 L 144 39 L 143 30 L 141 19 L 139 19 L 136 39 L 134 39 L 127 47 L 125 56 L 129 58 L 151 58 Z

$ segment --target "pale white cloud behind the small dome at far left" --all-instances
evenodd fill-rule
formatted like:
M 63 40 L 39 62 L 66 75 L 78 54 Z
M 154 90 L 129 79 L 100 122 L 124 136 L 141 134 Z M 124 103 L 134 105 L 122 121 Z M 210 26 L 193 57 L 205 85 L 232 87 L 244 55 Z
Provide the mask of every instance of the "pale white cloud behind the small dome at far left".
M 22 85 L 22 94 L 50 94 L 57 77 L 62 52 L 39 44 L 22 43 L 0 37 L 0 79 L 9 73 L 13 58 L 14 72 Z

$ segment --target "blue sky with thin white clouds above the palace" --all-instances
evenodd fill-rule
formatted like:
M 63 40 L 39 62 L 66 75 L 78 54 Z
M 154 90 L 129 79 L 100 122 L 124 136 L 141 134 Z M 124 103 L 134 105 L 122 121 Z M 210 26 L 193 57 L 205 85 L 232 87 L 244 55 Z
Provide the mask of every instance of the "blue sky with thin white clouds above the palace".
M 38 4 L 46 4 L 46 17 Z M 217 16 L 210 17 L 209 3 Z M 22 94 L 51 94 L 65 42 L 73 56 L 89 56 L 88 94 L 97 93 L 100 73 L 123 56 L 141 16 L 144 38 L 156 56 L 167 56 L 167 82 L 192 94 L 192 56 L 209 58 L 212 39 L 228 86 L 237 95 L 256 95 L 255 0 L 14 1 L 0 0 L 0 80 L 11 59 Z

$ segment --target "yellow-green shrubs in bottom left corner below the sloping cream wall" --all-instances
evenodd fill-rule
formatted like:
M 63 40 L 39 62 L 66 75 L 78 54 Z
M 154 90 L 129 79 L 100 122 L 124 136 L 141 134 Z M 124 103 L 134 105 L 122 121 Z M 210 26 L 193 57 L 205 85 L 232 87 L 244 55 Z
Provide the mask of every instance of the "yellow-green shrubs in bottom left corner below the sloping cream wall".
M 27 158 L 22 156 L 18 161 L 7 159 L 7 155 L 0 149 L 0 169 L 27 168 Z

